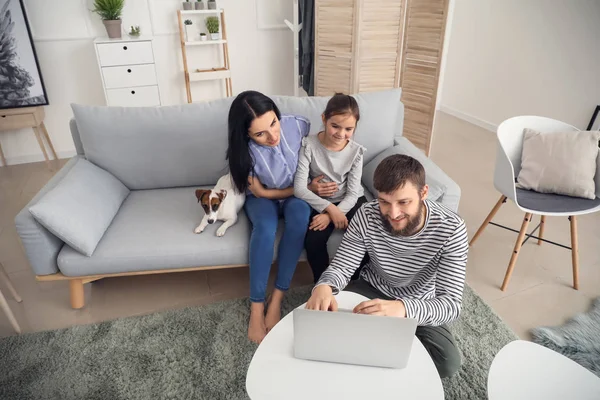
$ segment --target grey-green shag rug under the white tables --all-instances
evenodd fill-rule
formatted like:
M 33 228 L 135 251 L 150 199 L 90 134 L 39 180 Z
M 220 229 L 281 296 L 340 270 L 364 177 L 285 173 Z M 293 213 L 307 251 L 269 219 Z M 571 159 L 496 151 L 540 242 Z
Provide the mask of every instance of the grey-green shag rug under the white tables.
M 309 293 L 290 290 L 284 313 Z M 0 399 L 247 399 L 248 316 L 239 299 L 0 339 Z M 446 400 L 486 399 L 492 359 L 517 337 L 468 287 L 451 328 L 463 365 Z

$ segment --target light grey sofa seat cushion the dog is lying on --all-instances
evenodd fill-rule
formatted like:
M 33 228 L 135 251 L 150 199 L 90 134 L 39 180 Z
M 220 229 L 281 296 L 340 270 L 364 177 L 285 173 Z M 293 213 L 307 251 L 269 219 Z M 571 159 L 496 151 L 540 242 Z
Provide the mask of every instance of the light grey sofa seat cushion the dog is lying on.
M 132 191 L 92 257 L 65 246 L 58 255 L 60 271 L 67 276 L 83 276 L 247 264 L 251 224 L 244 211 L 224 237 L 215 236 L 220 221 L 197 235 L 193 231 L 204 211 L 197 203 L 195 189 L 197 187 Z M 282 227 L 283 220 L 277 243 Z M 341 238 L 341 232 L 331 236 L 328 243 L 331 257 Z M 277 246 L 273 260 L 276 254 Z M 305 259 L 303 254 L 301 260 Z

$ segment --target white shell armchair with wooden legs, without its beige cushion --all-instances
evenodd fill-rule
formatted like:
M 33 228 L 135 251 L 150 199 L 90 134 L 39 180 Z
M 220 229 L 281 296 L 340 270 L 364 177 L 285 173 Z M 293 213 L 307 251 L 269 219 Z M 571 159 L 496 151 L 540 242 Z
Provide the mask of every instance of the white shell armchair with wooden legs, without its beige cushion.
M 523 130 L 525 128 L 535 129 L 542 133 L 568 132 L 573 131 L 576 134 L 579 129 L 545 117 L 520 116 L 507 119 L 498 126 L 498 151 L 496 155 L 496 168 L 494 171 L 494 186 L 502 194 L 500 200 L 496 203 L 483 224 L 479 227 L 471 242 L 472 246 L 481 235 L 488 224 L 499 226 L 517 232 L 517 242 L 513 254 L 510 258 L 504 282 L 501 289 L 504 291 L 510 281 L 513 269 L 519 257 L 521 246 L 529 239 L 538 239 L 538 245 L 542 242 L 548 242 L 571 250 L 573 263 L 573 287 L 579 289 L 579 255 L 577 248 L 577 216 L 600 211 L 600 156 L 597 158 L 596 168 L 596 199 L 588 200 L 577 197 L 569 197 L 555 194 L 538 193 L 531 190 L 519 189 L 516 186 L 516 178 L 521 170 L 521 153 L 523 151 Z M 510 199 L 515 202 L 517 207 L 525 213 L 525 218 L 521 224 L 521 230 L 517 231 L 492 222 L 494 215 L 502 204 Z M 531 222 L 533 214 L 540 215 L 540 223 L 530 233 L 527 234 L 527 227 Z M 566 216 L 569 217 L 571 225 L 571 247 L 554 243 L 543 238 L 544 224 L 546 216 Z M 534 236 L 539 229 L 539 236 Z M 525 236 L 527 235 L 527 238 Z

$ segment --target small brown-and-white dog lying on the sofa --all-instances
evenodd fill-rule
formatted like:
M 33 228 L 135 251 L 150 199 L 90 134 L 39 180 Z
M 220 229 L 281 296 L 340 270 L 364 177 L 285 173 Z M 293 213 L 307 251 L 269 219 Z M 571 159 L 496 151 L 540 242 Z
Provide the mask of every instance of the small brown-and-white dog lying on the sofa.
M 224 221 L 217 229 L 217 236 L 223 236 L 227 229 L 237 222 L 237 215 L 244 206 L 245 194 L 240 194 L 233 187 L 229 174 L 219 178 L 217 185 L 212 190 L 196 190 L 198 203 L 204 209 L 204 218 L 194 233 L 202 233 L 208 224 L 215 221 Z

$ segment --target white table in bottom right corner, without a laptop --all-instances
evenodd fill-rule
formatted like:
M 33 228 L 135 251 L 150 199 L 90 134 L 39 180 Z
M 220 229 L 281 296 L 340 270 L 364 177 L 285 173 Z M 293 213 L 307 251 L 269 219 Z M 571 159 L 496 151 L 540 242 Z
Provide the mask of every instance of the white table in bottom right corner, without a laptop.
M 502 348 L 488 375 L 489 400 L 598 400 L 600 378 L 575 361 L 532 342 Z

